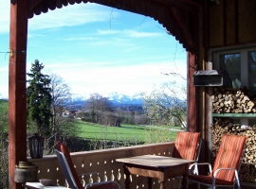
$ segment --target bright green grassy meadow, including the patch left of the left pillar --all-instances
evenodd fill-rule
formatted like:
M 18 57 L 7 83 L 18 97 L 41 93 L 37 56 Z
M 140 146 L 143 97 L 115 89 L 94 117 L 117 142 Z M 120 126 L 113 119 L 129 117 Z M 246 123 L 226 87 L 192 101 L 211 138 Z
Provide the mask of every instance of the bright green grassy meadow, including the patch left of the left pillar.
M 8 101 L 0 100 L 0 114 L 8 112 Z M 170 141 L 174 141 L 176 131 L 180 129 L 172 127 L 168 130 L 163 128 L 150 128 L 148 126 L 136 126 L 136 125 L 125 125 L 121 124 L 121 127 L 105 127 L 99 124 L 83 122 L 77 120 L 76 125 L 78 126 L 79 132 L 78 137 L 87 140 L 108 140 L 108 141 L 125 141 L 133 143 L 147 143 L 149 137 L 165 137 L 168 136 Z M 163 134 L 165 136 L 163 136 Z

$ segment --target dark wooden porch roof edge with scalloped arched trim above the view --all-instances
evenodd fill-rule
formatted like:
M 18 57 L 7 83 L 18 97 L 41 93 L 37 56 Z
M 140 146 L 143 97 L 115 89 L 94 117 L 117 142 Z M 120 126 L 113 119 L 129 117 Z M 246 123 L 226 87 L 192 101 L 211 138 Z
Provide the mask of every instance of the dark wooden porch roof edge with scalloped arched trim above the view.
M 183 47 L 194 53 L 198 11 L 202 7 L 199 0 L 28 0 L 28 18 L 46 13 L 48 9 L 62 9 L 64 6 L 80 3 L 96 3 L 115 9 L 123 9 L 149 16 L 174 35 Z

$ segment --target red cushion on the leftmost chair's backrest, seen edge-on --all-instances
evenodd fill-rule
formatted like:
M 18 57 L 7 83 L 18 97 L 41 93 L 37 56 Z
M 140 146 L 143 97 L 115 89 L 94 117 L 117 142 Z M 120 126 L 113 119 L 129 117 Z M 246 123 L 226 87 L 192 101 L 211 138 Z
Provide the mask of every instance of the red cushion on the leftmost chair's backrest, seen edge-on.
M 74 167 L 74 164 L 73 164 L 73 162 L 72 162 L 72 159 L 71 159 L 71 157 L 70 157 L 70 154 L 69 154 L 69 151 L 68 151 L 68 148 L 67 148 L 67 146 L 65 146 L 63 143 L 56 143 L 55 144 L 55 148 L 58 150 L 58 151 L 60 151 L 60 152 L 62 152 L 63 154 L 64 154 L 64 157 L 65 157 L 65 161 L 67 162 L 67 164 L 68 164 L 68 166 L 69 166 L 69 169 L 70 169 L 70 171 L 71 171 L 71 173 L 72 173 L 72 176 L 73 176 L 73 180 L 75 180 L 75 183 L 76 183 L 76 188 L 78 188 L 78 189 L 83 189 L 83 186 L 82 186 L 82 182 L 81 182 L 81 180 L 79 179 L 79 176 L 78 176 L 78 173 L 77 173 L 77 171 L 76 171 L 76 169 L 75 169 L 75 167 Z M 59 159 L 59 158 L 58 158 Z M 60 160 L 59 160 L 60 161 Z M 63 167 L 62 167 L 63 168 Z M 63 169 L 64 170 L 64 169 Z M 64 175 L 65 176 L 65 179 L 67 180 L 67 177 L 66 177 L 66 175 Z M 68 182 L 68 180 L 67 180 L 67 182 Z M 70 185 L 70 184 L 72 184 L 71 182 L 69 183 L 68 182 L 68 184 Z M 70 186 L 71 187 L 71 186 Z

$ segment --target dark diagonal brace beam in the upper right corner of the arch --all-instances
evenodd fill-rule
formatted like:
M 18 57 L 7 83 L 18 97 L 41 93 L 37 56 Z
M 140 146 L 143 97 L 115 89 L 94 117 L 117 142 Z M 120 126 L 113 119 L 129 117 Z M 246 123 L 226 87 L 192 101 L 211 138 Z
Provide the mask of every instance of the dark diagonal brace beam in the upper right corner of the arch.
M 191 49 L 194 49 L 195 45 L 194 45 L 194 41 L 192 39 L 192 35 L 190 34 L 188 27 L 185 25 L 185 22 L 182 20 L 181 15 L 174 7 L 171 7 L 171 11 L 172 11 L 174 18 L 175 18 L 182 34 L 184 35 L 187 43 L 190 45 Z

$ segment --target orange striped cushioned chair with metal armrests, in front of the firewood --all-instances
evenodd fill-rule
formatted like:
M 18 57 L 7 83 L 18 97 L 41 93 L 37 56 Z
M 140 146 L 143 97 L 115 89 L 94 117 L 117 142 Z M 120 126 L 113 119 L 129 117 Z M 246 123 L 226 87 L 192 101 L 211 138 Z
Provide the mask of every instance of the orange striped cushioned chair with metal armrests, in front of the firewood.
M 208 165 L 209 175 L 190 174 L 188 180 L 197 183 L 197 188 L 200 184 L 209 186 L 214 189 L 217 186 L 233 187 L 237 184 L 240 189 L 240 181 L 238 177 L 240 165 L 243 159 L 244 149 L 246 146 L 246 136 L 224 134 L 221 146 L 218 150 L 213 170 L 210 163 L 193 163 L 194 165 Z

